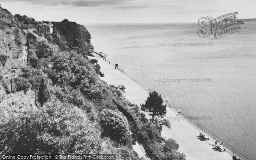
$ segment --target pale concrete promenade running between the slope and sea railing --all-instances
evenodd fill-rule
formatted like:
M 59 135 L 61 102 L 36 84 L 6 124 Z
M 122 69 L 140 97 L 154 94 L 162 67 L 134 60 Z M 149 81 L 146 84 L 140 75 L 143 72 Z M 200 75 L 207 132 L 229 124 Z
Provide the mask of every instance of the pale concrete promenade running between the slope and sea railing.
M 101 71 L 105 74 L 105 77 L 101 77 L 102 80 L 115 86 L 124 85 L 126 87 L 124 96 L 131 103 L 139 106 L 145 103 L 148 93 L 134 81 L 124 76 L 120 71 L 114 70 L 114 67 L 102 58 L 89 58 L 98 59 Z M 232 157 L 227 152 L 212 149 L 213 146 L 211 144 L 213 142 L 211 140 L 201 141 L 198 139 L 199 132 L 189 125 L 186 120 L 181 119 L 181 116 L 177 116 L 177 112 L 173 111 L 172 108 L 167 107 L 166 117 L 169 119 L 176 118 L 176 120 L 170 121 L 171 129 L 164 127 L 161 134 L 163 137 L 176 140 L 179 144 L 178 150 L 186 155 L 187 160 L 232 160 Z

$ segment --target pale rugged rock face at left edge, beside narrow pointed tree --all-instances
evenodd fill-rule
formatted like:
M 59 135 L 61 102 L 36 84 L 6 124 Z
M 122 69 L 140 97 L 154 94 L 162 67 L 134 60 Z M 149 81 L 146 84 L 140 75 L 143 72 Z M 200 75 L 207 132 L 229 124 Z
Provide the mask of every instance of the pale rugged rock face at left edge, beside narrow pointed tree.
M 0 123 L 25 110 L 37 110 L 34 91 L 29 90 L 26 93 L 20 91 L 0 96 Z

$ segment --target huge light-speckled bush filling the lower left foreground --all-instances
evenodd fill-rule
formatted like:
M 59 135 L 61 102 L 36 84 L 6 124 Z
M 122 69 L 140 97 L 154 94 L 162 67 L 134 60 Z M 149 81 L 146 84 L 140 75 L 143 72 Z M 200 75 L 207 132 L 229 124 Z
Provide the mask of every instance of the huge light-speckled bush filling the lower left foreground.
M 99 130 L 84 113 L 58 101 L 20 112 L 0 127 L 1 154 L 95 154 L 102 151 Z

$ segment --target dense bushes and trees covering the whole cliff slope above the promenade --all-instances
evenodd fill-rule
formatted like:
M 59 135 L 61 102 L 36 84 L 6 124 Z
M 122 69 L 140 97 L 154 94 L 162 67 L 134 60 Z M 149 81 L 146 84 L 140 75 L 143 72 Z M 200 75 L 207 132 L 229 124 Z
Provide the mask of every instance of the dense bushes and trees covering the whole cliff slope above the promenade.
M 142 105 L 152 112 L 149 121 L 140 107 L 122 96 L 125 86 L 99 79 L 100 66 L 86 57 L 90 33 L 84 26 L 53 22 L 50 33 L 47 23 L 15 16 L 23 28 L 33 27 L 26 35 L 29 61 L 20 68 L 15 88 L 33 90 L 38 110 L 20 111 L 0 124 L 0 154 L 94 153 L 140 160 L 132 144 L 141 143 L 142 137 L 158 160 L 185 160 L 175 140 L 161 137 L 162 127 L 170 123 L 154 118 L 166 113 L 156 92 Z

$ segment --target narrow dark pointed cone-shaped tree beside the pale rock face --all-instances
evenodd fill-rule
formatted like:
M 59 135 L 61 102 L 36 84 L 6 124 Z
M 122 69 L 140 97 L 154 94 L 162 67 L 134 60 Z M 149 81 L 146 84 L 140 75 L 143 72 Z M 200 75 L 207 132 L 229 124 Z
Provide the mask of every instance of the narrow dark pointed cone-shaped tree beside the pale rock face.
M 41 106 L 51 98 L 50 91 L 44 79 L 41 81 L 41 85 L 38 91 L 38 102 Z

